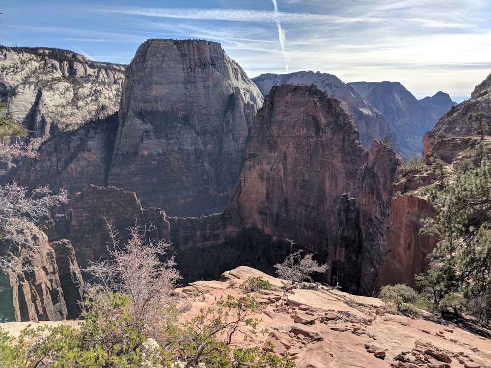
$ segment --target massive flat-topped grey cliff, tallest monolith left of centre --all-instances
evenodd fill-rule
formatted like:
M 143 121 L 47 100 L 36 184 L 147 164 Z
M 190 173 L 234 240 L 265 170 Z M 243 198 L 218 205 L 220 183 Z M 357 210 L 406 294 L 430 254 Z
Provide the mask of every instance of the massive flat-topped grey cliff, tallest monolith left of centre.
M 126 76 L 108 184 L 174 215 L 222 210 L 261 103 L 218 43 L 143 43 Z

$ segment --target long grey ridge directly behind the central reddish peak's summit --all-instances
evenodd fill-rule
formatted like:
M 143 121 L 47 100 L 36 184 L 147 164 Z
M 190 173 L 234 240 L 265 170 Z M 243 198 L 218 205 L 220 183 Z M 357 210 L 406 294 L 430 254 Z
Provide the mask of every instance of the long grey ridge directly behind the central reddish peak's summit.
M 399 147 L 399 138 L 392 129 L 389 121 L 379 111 L 367 104 L 356 92 L 355 88 L 345 84 L 341 79 L 327 73 L 296 72 L 290 74 L 262 74 L 252 79 L 263 95 L 267 95 L 273 85 L 278 84 L 315 84 L 319 89 L 326 91 L 328 96 L 336 97 L 346 112 L 353 117 L 359 131 L 359 139 L 364 147 L 372 144 L 374 139 L 382 140 L 388 135 L 396 150 Z

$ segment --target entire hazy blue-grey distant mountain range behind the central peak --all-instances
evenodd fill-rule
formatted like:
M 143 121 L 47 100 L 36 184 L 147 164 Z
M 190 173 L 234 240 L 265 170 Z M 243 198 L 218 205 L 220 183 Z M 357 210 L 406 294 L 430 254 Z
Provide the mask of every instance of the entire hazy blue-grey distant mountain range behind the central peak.
M 387 135 L 395 150 L 405 158 L 421 154 L 423 134 L 457 105 L 441 91 L 418 101 L 399 82 L 344 83 L 331 74 L 312 71 L 262 74 L 252 80 L 263 95 L 267 95 L 275 84 L 317 85 L 341 100 L 343 107 L 353 116 L 365 147 L 371 145 L 373 139 L 382 140 Z M 374 124 L 374 120 L 378 124 Z

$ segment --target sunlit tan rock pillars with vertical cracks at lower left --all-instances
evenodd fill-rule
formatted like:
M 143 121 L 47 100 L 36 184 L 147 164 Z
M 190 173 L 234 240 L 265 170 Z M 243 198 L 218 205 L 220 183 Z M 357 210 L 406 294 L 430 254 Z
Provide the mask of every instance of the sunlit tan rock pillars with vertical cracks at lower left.
M 4 308 L 12 312 L 7 318 L 57 321 L 80 315 L 82 276 L 68 240 L 52 247 L 48 237 L 32 226 L 25 231 L 24 243 L 6 240 L 0 243 L 0 250 L 2 257 L 12 261 L 12 267 L 5 270 L 12 299 L 2 295 L 2 304 L 12 306 Z M 58 265 L 63 266 L 61 272 Z

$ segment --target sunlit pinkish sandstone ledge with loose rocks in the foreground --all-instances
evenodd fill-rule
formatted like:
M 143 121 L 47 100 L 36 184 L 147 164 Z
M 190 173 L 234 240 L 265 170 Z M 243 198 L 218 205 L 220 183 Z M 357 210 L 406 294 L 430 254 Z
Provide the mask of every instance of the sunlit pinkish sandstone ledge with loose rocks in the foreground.
M 260 304 L 255 316 L 269 331 L 258 336 L 258 343 L 272 342 L 273 352 L 289 353 L 297 367 L 491 367 L 490 339 L 464 325 L 430 314 L 419 319 L 393 315 L 380 299 L 321 285 L 291 289 L 288 282 L 246 266 L 224 272 L 221 281 L 197 281 L 176 289 L 188 304 L 182 318 L 192 318 L 227 294 L 244 296 L 239 285 L 250 276 L 261 276 L 273 286 L 253 293 Z M 3 324 L 13 335 L 26 325 Z

